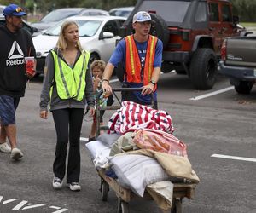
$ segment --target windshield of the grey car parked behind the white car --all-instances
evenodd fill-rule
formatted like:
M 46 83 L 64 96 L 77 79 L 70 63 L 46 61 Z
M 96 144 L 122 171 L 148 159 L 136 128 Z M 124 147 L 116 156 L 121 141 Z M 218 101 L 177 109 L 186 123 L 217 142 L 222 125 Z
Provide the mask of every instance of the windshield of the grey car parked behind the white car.
M 70 10 L 70 11 L 54 10 L 54 11 L 50 12 L 49 14 L 46 14 L 41 21 L 55 22 L 55 21 L 63 20 L 67 17 L 79 14 L 79 11 L 80 10 Z

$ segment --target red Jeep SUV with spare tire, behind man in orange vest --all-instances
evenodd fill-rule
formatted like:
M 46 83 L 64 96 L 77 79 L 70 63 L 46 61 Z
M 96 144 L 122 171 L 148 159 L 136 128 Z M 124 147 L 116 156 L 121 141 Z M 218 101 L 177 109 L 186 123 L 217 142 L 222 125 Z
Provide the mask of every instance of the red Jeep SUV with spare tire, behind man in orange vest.
M 147 11 L 154 20 L 151 34 L 164 44 L 162 72 L 187 74 L 196 89 L 212 89 L 224 37 L 237 36 L 241 27 L 228 0 L 139 0 L 120 29 L 133 32 L 132 17 Z

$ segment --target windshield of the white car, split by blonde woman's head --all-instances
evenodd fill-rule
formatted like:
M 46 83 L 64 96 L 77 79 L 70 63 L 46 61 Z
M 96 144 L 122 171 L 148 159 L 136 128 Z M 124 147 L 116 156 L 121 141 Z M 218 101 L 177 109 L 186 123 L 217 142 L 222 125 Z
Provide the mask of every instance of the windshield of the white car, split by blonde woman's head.
M 44 35 L 58 36 L 61 32 L 61 25 L 64 22 L 61 21 L 57 25 L 49 28 Z M 102 24 L 101 20 L 75 20 L 79 26 L 79 36 L 80 37 L 92 37 L 96 34 L 97 30 Z

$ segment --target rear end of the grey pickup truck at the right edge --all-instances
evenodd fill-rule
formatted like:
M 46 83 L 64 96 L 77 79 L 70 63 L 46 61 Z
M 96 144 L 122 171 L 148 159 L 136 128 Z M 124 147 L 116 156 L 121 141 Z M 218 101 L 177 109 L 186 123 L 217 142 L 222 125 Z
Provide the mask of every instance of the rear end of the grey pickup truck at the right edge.
M 221 49 L 220 72 L 230 78 L 236 92 L 249 94 L 256 83 L 256 36 L 226 37 Z

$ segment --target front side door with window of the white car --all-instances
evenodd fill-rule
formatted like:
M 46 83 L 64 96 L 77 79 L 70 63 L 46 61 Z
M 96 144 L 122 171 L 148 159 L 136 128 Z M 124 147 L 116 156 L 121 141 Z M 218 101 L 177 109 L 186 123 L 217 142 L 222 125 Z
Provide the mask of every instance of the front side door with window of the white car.
M 102 60 L 105 60 L 106 62 L 108 62 L 113 50 L 115 49 L 116 40 L 120 39 L 119 27 L 121 26 L 121 21 L 124 20 L 108 20 L 108 22 L 106 22 L 105 26 L 102 28 L 99 42 L 102 43 Z M 103 32 L 112 32 L 113 37 L 103 38 Z

